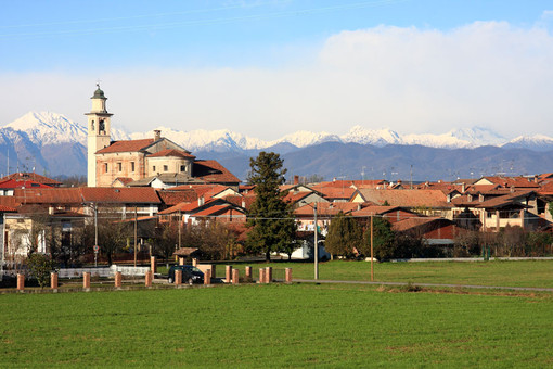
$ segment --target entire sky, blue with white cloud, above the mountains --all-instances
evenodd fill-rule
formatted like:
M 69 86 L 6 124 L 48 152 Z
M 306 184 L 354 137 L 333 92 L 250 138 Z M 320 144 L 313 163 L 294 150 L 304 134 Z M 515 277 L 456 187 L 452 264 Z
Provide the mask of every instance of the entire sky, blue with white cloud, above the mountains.
M 0 0 L 0 125 L 553 137 L 553 3 Z

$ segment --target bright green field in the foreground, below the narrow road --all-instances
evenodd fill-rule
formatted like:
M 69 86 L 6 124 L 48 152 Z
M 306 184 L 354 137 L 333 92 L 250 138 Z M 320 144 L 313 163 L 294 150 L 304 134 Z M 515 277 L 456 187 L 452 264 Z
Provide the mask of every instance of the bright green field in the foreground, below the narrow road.
M 553 294 L 270 284 L 0 296 L 5 367 L 553 365 Z

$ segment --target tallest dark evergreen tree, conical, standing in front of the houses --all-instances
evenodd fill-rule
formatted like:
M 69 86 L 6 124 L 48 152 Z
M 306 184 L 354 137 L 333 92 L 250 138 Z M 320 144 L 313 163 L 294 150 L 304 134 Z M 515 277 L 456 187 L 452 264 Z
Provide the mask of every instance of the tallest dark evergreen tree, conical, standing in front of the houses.
M 296 224 L 292 206 L 283 201 L 285 193 L 280 191 L 286 169 L 279 154 L 261 151 L 249 160 L 252 171 L 248 182 L 255 184 L 256 200 L 248 212 L 246 250 L 263 253 L 267 260 L 271 252 L 285 251 L 294 242 Z

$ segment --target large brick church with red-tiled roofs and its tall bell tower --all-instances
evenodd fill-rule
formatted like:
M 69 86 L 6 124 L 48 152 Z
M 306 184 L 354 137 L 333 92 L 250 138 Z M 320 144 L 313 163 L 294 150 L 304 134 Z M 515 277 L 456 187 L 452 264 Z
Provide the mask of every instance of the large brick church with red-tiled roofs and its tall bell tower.
M 88 116 L 88 187 L 156 187 L 218 183 L 240 179 L 216 161 L 196 160 L 190 151 L 154 130 L 152 138 L 112 141 L 107 98 L 97 85 Z

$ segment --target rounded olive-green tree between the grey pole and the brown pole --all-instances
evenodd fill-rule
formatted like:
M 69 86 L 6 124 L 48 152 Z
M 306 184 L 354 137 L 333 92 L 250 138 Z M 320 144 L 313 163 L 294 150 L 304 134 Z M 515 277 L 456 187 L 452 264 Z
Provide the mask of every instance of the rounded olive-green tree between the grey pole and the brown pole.
M 339 212 L 335 216 L 324 242 L 324 247 L 331 255 L 343 255 L 349 257 L 353 254 L 353 249 L 359 251 L 363 241 L 361 226 L 350 216 Z

